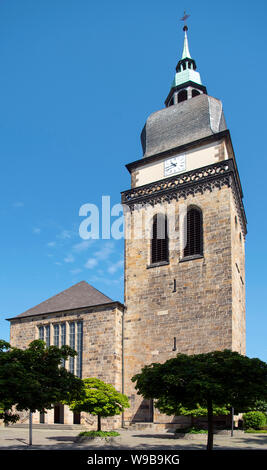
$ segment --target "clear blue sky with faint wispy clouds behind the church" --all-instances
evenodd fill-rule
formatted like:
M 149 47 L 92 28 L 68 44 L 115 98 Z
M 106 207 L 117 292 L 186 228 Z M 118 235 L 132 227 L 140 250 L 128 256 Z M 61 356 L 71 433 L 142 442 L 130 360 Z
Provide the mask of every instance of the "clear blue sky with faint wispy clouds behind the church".
M 79 208 L 120 202 L 124 165 L 164 107 L 179 18 L 223 102 L 248 218 L 247 355 L 267 361 L 265 0 L 0 1 L 0 337 L 5 318 L 86 280 L 123 301 L 123 241 L 79 237 Z M 90 261 L 94 260 L 94 261 Z

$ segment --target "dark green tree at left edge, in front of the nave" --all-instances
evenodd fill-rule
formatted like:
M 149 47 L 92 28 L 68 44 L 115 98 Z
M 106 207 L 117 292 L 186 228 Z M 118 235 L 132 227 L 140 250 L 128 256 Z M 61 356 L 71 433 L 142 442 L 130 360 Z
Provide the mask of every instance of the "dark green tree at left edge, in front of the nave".
M 61 366 L 62 359 L 77 353 L 69 346 L 46 347 L 44 341 L 32 341 L 27 349 L 13 348 L 0 341 L 0 404 L 4 422 L 14 422 L 11 411 L 43 411 L 55 403 L 78 399 L 83 382 Z M 30 432 L 31 443 L 31 432 Z

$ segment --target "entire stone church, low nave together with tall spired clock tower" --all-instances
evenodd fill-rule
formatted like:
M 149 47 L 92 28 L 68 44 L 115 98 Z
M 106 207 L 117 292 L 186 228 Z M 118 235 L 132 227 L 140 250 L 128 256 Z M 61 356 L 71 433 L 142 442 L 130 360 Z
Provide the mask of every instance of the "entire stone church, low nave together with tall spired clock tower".
M 226 348 L 245 354 L 243 193 L 222 103 L 201 82 L 187 30 L 165 107 L 142 130 L 143 156 L 126 165 L 124 305 L 82 281 L 9 319 L 12 346 L 69 344 L 77 356 L 65 367 L 129 397 L 122 418 L 103 420 L 107 428 L 179 422 L 137 395 L 131 378 L 146 364 Z M 33 422 L 95 426 L 61 404 Z

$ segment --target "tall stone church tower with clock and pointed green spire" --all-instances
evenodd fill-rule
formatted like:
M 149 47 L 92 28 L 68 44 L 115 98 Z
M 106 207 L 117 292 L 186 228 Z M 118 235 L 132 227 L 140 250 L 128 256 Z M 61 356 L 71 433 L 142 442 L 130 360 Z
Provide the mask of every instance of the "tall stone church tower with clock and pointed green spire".
M 146 121 L 143 158 L 126 165 L 126 423 L 166 422 L 131 382 L 144 365 L 177 353 L 245 354 L 243 194 L 222 103 L 207 94 L 187 26 L 184 34 L 166 107 Z

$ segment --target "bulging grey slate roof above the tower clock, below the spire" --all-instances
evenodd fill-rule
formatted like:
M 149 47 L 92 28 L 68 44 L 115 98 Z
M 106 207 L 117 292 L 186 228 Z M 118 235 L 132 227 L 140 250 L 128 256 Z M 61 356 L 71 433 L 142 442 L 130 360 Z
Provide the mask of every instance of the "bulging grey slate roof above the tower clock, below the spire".
M 152 113 L 141 134 L 144 157 L 226 130 L 220 100 L 201 94 Z

